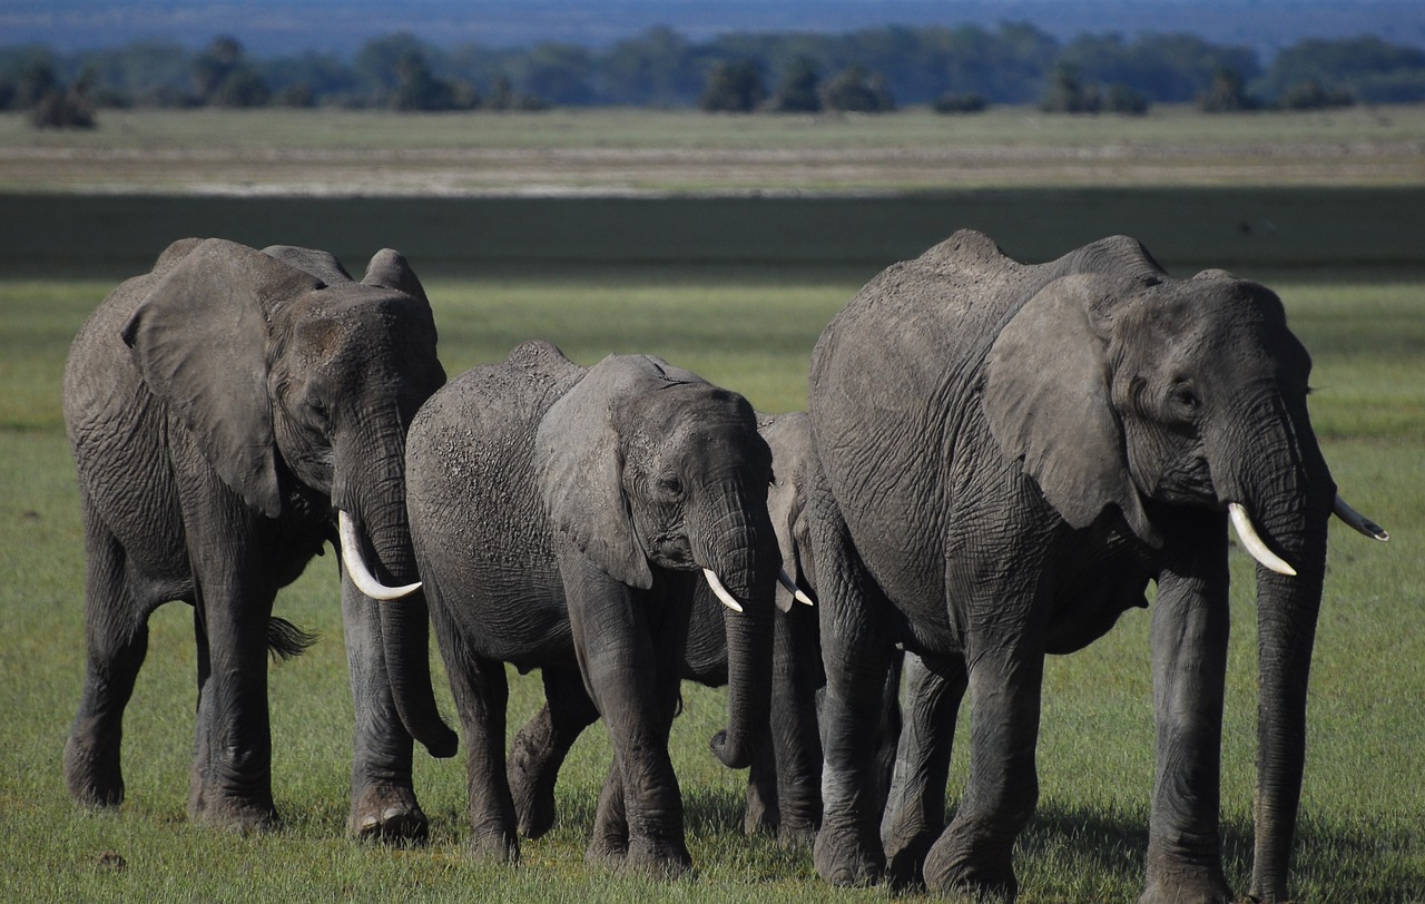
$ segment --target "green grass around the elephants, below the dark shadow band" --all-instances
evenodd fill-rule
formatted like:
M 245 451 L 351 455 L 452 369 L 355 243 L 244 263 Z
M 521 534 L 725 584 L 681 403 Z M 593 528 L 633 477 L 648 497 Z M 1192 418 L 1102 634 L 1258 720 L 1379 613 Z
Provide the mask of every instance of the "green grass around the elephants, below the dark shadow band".
M 356 264 L 348 261 L 348 264 Z M 742 774 L 707 751 L 722 694 L 687 690 L 674 763 L 700 874 L 671 885 L 583 866 L 607 769 L 600 729 L 566 767 L 563 818 L 526 843 L 519 870 L 463 856 L 463 761 L 418 754 L 432 843 L 385 850 L 343 837 L 351 700 L 332 559 L 278 602 L 318 630 L 271 672 L 274 791 L 281 831 L 237 837 L 187 823 L 192 626 L 182 606 L 152 619 L 148 663 L 127 717 L 128 800 L 77 810 L 60 754 L 83 669 L 83 552 L 58 408 L 68 339 L 114 279 L 0 279 L 0 898 L 50 901 L 864 901 L 836 891 L 805 853 L 741 836 Z M 449 372 L 549 338 L 583 362 L 651 351 L 745 392 L 765 411 L 805 404 L 807 355 L 855 292 L 855 271 L 643 268 L 436 274 L 426 279 Z M 1392 532 L 1388 545 L 1331 536 L 1295 854 L 1301 900 L 1425 897 L 1425 278 L 1416 274 L 1247 274 L 1287 301 L 1315 359 L 1311 408 L 1342 492 Z M 1233 650 L 1223 749 L 1227 868 L 1245 891 L 1251 860 L 1254 612 L 1250 562 L 1234 553 Z M 1052 659 L 1045 686 L 1039 813 L 1017 854 L 1023 901 L 1130 901 L 1143 875 L 1153 726 L 1146 612 L 1097 644 Z M 437 664 L 439 666 L 439 664 Z M 449 693 L 437 674 L 446 713 Z M 512 729 L 539 704 L 513 680 Z M 962 731 L 960 737 L 966 734 Z M 949 800 L 965 774 L 958 751 Z M 114 870 L 117 854 L 127 864 Z

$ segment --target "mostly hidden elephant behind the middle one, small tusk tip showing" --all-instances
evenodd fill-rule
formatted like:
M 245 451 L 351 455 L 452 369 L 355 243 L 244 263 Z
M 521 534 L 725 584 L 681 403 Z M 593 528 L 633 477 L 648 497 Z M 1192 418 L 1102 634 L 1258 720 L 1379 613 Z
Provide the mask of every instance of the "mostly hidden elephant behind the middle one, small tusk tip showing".
M 809 844 L 821 824 L 821 740 L 817 731 L 817 690 L 825 683 L 817 612 L 815 570 L 802 519 L 802 473 L 811 439 L 805 412 L 760 416 L 760 432 L 772 452 L 772 485 L 767 509 L 782 572 L 777 587 L 772 644 L 771 721 L 768 736 L 748 770 L 748 834 L 772 833 L 788 844 Z M 728 636 L 741 622 L 711 587 L 697 583 L 681 677 L 707 687 L 728 683 Z M 554 783 L 579 734 L 598 719 L 581 692 L 573 699 L 546 702 L 514 737 L 509 784 L 522 836 L 537 838 L 554 824 Z M 893 740 L 891 744 L 893 750 Z

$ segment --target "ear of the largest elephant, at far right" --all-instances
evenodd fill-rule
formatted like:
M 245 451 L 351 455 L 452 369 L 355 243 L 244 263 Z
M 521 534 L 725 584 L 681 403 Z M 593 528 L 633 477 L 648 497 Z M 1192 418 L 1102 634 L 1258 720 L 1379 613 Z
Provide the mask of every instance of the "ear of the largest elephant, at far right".
M 1040 289 L 990 348 L 982 404 L 1000 451 L 1023 461 L 1072 528 L 1087 528 L 1117 506 L 1133 532 L 1157 546 L 1110 401 L 1100 312 L 1121 291 L 1120 281 L 1090 274 Z

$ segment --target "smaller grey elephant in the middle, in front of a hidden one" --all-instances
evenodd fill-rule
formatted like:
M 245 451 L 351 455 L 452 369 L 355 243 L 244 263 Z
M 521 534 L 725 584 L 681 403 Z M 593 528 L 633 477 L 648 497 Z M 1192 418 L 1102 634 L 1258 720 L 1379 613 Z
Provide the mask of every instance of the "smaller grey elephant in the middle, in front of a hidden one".
M 412 536 L 469 747 L 472 847 L 517 861 L 503 663 L 553 706 L 593 704 L 614 763 L 591 863 L 688 868 L 668 759 L 693 586 L 712 569 L 728 627 L 728 766 L 755 754 L 771 686 L 778 550 L 771 453 L 740 395 L 657 358 L 593 368 L 530 342 L 437 392 L 410 428 Z

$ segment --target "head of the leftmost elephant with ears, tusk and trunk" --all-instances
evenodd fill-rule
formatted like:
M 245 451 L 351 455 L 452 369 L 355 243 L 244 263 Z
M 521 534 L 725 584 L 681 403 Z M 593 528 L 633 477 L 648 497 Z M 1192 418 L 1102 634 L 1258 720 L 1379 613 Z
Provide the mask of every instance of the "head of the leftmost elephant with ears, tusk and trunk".
M 218 478 L 265 518 L 325 506 L 312 515 L 339 525 L 343 566 L 363 593 L 418 589 L 405 435 L 445 371 L 430 305 L 405 258 L 380 251 L 356 282 L 325 252 L 187 240 L 155 269 L 165 275 L 123 338 Z M 388 662 L 425 663 L 422 599 L 386 609 Z M 429 673 L 425 684 L 429 709 L 402 716 L 428 746 L 453 749 Z

